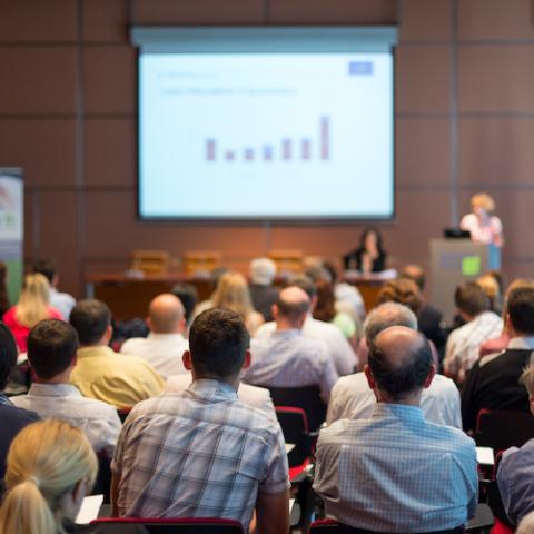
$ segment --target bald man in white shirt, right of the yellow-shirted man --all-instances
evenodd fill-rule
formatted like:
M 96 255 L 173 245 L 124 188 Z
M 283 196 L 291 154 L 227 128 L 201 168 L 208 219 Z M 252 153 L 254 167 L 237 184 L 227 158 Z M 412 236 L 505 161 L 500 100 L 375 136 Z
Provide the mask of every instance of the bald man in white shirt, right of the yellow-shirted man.
M 162 378 L 187 373 L 181 357 L 189 344 L 184 337 L 186 317 L 180 299 L 171 293 L 158 295 L 148 307 L 146 322 L 148 337 L 126 340 L 120 352 L 146 359 Z

